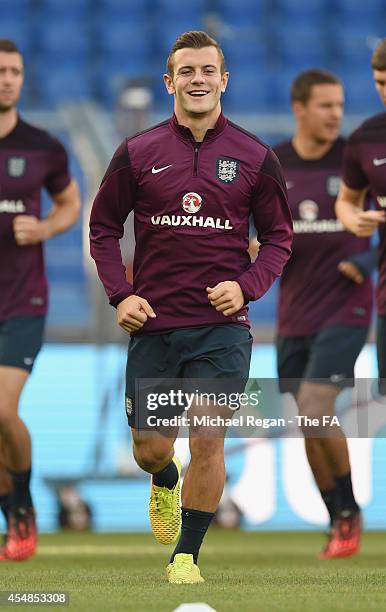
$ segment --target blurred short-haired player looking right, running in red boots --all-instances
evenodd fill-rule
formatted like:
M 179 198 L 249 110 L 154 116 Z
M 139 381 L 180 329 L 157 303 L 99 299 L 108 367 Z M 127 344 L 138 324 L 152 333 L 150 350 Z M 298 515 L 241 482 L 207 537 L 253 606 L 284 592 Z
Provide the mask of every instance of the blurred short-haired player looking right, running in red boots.
M 342 388 L 352 385 L 355 361 L 365 344 L 372 309 L 369 277 L 352 280 L 339 265 L 367 254 L 369 241 L 344 231 L 336 219 L 344 140 L 343 88 L 324 70 L 301 73 L 291 90 L 296 119 L 293 138 L 275 147 L 282 164 L 294 220 L 293 253 L 280 281 L 277 338 L 282 392 L 292 393 L 299 413 L 333 415 Z M 361 517 L 355 500 L 346 437 L 312 437 L 308 462 L 330 515 L 321 558 L 346 557 L 359 547 Z

